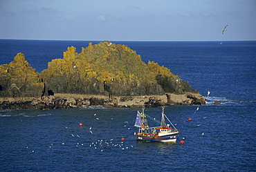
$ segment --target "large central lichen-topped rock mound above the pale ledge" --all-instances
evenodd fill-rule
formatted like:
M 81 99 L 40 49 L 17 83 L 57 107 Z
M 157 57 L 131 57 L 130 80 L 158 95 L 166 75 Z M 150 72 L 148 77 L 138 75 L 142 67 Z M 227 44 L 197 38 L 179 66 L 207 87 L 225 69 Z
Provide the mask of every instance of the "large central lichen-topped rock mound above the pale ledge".
M 94 94 L 107 96 L 198 93 L 181 77 L 154 61 L 145 64 L 134 50 L 105 41 L 89 44 L 78 54 L 75 47 L 53 59 L 40 78 L 46 94 Z

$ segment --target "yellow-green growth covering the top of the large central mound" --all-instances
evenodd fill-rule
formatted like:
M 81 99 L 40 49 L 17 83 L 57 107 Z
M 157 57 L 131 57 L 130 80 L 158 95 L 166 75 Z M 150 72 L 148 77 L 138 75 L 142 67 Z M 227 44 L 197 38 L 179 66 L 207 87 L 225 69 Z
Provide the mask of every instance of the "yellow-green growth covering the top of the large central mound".
M 72 76 L 79 73 L 84 80 L 97 79 L 100 82 L 140 82 L 156 83 L 156 75 L 164 75 L 172 80 L 179 78 L 169 69 L 158 66 L 154 61 L 145 64 L 140 55 L 124 45 L 111 44 L 109 41 L 89 44 L 77 54 L 74 47 L 68 47 L 64 59 L 54 59 L 42 75 Z

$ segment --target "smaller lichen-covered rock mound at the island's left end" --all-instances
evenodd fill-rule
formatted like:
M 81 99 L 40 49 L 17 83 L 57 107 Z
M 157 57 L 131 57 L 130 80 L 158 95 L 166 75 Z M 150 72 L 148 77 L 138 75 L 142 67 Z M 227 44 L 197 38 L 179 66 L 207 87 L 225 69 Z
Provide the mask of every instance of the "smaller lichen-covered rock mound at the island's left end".
M 10 64 L 0 66 L 0 97 L 41 97 L 44 83 L 39 73 L 18 53 Z

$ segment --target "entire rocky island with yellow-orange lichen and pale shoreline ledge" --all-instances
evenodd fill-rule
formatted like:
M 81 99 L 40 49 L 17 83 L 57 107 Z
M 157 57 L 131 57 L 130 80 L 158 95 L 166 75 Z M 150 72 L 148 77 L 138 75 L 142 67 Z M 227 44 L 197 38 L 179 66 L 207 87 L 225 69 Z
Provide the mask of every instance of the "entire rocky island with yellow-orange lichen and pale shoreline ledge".
M 80 54 L 68 47 L 63 59 L 37 73 L 18 53 L 0 66 L 0 109 L 84 106 L 201 105 L 205 98 L 154 61 L 145 64 L 129 47 L 110 41 L 89 44 Z

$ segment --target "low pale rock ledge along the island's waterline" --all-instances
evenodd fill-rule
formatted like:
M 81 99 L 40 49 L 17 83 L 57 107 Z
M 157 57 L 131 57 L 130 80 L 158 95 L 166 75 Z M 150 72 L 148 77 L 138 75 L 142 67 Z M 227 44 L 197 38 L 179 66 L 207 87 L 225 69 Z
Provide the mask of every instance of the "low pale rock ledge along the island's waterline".
M 192 97 L 192 99 L 191 99 Z M 55 96 L 0 98 L 0 109 L 58 109 L 82 108 L 86 106 L 106 107 L 146 107 L 203 104 L 204 98 L 199 94 L 147 95 L 147 96 L 113 96 L 56 94 Z

